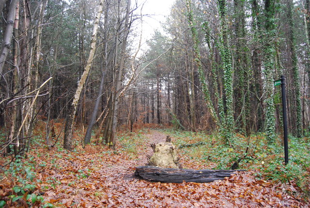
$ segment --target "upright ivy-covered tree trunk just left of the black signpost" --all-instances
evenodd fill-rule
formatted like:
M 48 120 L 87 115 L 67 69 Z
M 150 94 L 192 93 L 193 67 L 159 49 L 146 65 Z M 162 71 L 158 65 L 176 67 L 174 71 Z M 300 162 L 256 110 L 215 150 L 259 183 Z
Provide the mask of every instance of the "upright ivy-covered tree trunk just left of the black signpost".
M 264 0 L 264 17 L 265 31 L 262 42 L 265 44 L 263 48 L 264 102 L 266 105 L 265 131 L 267 134 L 267 142 L 271 145 L 276 138 L 275 107 L 273 102 L 273 73 L 275 67 L 275 45 L 273 39 L 276 35 L 274 0 Z

